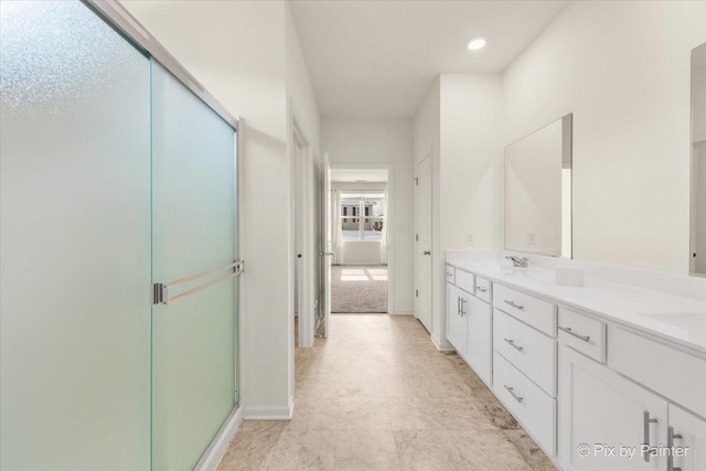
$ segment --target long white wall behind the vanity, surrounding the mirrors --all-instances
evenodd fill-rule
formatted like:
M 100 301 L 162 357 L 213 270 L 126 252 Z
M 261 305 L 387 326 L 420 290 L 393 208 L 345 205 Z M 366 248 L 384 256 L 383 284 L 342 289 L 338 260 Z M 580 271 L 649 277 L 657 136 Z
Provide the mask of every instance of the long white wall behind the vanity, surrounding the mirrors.
M 503 75 L 504 142 L 574 114 L 574 257 L 687 272 L 706 2 L 571 2 Z

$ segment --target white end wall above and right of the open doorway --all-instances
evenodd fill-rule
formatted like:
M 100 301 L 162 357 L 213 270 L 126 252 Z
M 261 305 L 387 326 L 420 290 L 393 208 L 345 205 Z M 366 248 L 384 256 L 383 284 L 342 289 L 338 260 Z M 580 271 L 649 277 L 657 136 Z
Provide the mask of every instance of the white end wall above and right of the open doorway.
M 323 117 L 321 148 L 334 165 L 392 165 L 393 227 L 388 227 L 389 260 L 394 264 L 393 306 L 396 313 L 414 311 L 413 222 L 414 165 L 410 119 Z

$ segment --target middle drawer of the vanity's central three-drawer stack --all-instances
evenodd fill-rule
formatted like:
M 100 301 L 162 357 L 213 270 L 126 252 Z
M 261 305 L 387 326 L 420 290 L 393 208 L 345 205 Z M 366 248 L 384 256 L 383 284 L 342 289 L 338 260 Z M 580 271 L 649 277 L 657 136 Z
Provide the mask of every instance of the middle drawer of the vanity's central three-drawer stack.
M 556 397 L 556 342 L 554 339 L 495 309 L 493 347 L 545 393 Z

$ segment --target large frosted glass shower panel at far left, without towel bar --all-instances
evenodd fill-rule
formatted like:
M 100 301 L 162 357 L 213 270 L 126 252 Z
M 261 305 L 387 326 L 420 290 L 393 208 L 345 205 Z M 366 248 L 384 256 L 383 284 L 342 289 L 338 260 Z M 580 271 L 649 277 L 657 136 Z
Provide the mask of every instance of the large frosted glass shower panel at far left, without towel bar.
M 146 470 L 149 60 L 78 1 L 0 10 L 0 469 Z

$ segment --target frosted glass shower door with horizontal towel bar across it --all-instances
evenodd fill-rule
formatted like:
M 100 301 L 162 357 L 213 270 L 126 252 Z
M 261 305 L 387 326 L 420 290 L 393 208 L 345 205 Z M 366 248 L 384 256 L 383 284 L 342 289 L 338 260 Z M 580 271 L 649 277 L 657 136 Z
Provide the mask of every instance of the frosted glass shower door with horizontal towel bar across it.
M 191 470 L 237 402 L 235 131 L 152 61 L 152 469 Z

